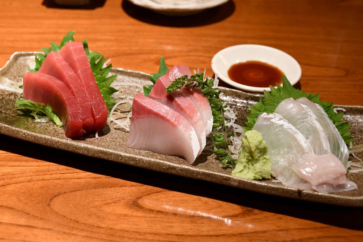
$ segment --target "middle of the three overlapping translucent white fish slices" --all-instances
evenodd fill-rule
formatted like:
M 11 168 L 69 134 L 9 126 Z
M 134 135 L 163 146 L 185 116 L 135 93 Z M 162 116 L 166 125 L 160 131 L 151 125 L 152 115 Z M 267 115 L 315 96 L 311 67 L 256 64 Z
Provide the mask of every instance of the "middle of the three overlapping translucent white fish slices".
M 278 104 L 275 112 L 285 118 L 309 141 L 315 154 L 331 153 L 328 138 L 317 116 L 309 107 L 300 104 L 293 98 L 287 98 Z

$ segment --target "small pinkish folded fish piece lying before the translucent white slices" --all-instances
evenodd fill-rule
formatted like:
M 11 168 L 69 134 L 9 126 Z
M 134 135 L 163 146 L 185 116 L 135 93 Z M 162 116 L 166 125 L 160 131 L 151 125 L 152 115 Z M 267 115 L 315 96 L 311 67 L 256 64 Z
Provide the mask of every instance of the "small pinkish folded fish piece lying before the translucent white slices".
M 357 185 L 346 179 L 347 170 L 333 154 L 307 155 L 292 165 L 300 177 L 321 193 L 343 192 L 357 189 Z

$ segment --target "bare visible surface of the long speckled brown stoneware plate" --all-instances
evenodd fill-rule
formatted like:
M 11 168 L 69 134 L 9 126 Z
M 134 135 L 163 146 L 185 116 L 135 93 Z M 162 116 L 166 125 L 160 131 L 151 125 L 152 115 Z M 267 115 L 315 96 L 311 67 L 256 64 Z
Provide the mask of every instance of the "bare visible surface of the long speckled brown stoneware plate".
M 224 169 L 213 155 L 200 155 L 189 165 L 185 160 L 160 155 L 148 151 L 140 151 L 125 147 L 128 132 L 123 128 L 115 127 L 115 123 L 107 122 L 99 132 L 99 138 L 90 134 L 78 139 L 66 138 L 62 127 L 53 123 L 38 123 L 33 119 L 24 117 L 22 112 L 16 110 L 15 101 L 21 97 L 21 75 L 28 68 L 33 68 L 35 53 L 14 53 L 7 64 L 0 69 L 0 133 L 22 140 L 34 142 L 49 147 L 79 153 L 85 156 L 116 161 L 134 165 L 136 167 L 170 173 L 179 176 L 192 177 L 241 189 L 252 190 L 276 196 L 296 198 L 307 201 L 321 202 L 341 206 L 363 207 L 363 173 L 348 173 L 347 178 L 358 185 L 358 189 L 350 192 L 320 194 L 318 192 L 303 191 L 287 188 L 272 180 L 250 181 L 231 176 L 230 169 Z M 120 82 L 150 84 L 148 74 L 137 71 L 113 68 L 112 73 L 118 74 L 114 85 Z M 120 91 L 116 99 L 122 96 L 134 96 L 140 90 L 136 86 L 115 86 Z M 238 123 L 245 122 L 244 114 L 248 112 L 247 106 L 255 104 L 261 94 L 249 94 L 242 91 L 221 88 L 223 98 L 236 112 Z M 342 106 L 346 109 L 344 119 L 351 124 L 352 136 L 355 137 L 353 147 L 356 155 L 363 157 L 363 107 Z M 130 106 L 121 107 L 117 112 L 119 118 L 125 118 Z M 358 148 L 357 148 L 358 147 Z M 355 158 L 351 157 L 354 161 Z

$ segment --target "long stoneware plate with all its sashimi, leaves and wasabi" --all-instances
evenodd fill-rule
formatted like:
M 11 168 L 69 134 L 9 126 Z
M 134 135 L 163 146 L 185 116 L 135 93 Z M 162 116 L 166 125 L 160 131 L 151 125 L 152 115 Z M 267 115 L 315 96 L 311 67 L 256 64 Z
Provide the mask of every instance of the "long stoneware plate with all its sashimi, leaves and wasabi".
M 218 86 L 188 66 L 114 68 L 69 32 L 0 69 L 0 133 L 255 192 L 363 206 L 363 107 L 282 85 Z M 155 70 L 157 71 L 157 70 Z M 319 90 L 316 90 L 317 92 Z

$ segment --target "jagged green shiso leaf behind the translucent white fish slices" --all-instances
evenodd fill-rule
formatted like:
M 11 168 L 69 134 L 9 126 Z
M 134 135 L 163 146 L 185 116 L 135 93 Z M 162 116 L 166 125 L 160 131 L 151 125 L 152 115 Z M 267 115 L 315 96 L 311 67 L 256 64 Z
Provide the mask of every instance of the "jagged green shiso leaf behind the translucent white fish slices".
M 302 90 L 295 89 L 286 76 L 282 76 L 282 86 L 277 85 L 277 87 L 270 86 L 271 93 L 268 91 L 264 91 L 265 98 L 260 98 L 260 101 L 256 104 L 256 106 L 248 106 L 251 110 L 250 114 L 245 114 L 247 118 L 246 126 L 243 127 L 245 131 L 252 130 L 258 115 L 261 112 L 266 112 L 271 114 L 275 111 L 277 105 L 286 98 L 298 99 L 301 97 L 305 97 L 309 99 L 311 102 L 317 103 L 321 105 L 329 116 L 331 121 L 334 123 L 335 127 L 337 127 L 340 135 L 342 136 L 345 143 L 349 143 L 354 140 L 353 137 L 350 137 L 350 125 L 348 122 L 343 122 L 342 117 L 343 113 L 334 112 L 334 104 L 329 102 L 320 101 L 320 94 L 314 95 L 313 93 L 305 93 Z

